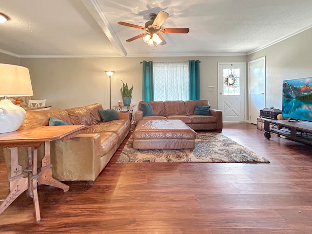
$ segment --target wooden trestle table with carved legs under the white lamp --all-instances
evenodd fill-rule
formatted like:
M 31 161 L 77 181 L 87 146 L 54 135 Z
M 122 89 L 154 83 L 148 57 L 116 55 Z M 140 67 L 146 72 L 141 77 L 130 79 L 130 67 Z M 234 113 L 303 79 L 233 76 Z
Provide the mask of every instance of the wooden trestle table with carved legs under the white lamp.
M 11 151 L 11 175 L 9 178 L 10 193 L 0 205 L 0 214 L 24 191 L 33 198 L 37 223 L 40 222 L 38 184 L 45 184 L 69 190 L 69 186 L 52 177 L 50 158 L 50 141 L 61 139 L 63 141 L 76 136 L 84 125 L 68 126 L 40 126 L 31 129 L 18 129 L 10 133 L 0 134 L 0 147 L 9 148 Z M 41 161 L 41 170 L 37 174 L 38 148 L 44 143 L 44 157 Z M 28 148 L 28 167 L 19 165 L 18 148 Z M 28 178 L 23 177 L 23 172 L 28 173 Z

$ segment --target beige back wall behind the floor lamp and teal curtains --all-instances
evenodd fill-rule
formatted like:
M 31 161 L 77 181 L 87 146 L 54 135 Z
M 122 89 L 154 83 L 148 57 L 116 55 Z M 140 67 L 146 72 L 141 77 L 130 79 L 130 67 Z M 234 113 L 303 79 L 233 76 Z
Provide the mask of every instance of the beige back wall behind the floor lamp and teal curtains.
M 158 58 L 66 58 L 66 59 L 20 59 L 29 68 L 34 97 L 47 99 L 53 108 L 70 108 L 99 102 L 109 108 L 109 78 L 104 71 L 116 73 L 111 78 L 111 103 L 121 99 L 121 80 L 134 84 L 132 104 L 142 100 L 142 60 L 187 61 L 199 59 L 201 98 L 208 99 L 217 108 L 217 92 L 208 94 L 208 86 L 217 90 L 218 62 L 246 62 L 246 56 L 225 57 L 158 57 Z

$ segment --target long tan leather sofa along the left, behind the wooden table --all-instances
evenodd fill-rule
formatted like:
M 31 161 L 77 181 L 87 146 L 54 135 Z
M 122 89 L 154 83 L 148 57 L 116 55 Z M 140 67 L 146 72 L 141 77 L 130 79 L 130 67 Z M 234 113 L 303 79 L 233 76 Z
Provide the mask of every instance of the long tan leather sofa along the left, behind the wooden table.
M 54 178 L 60 181 L 94 181 L 128 135 L 130 131 L 130 114 L 128 112 L 117 112 L 119 120 L 102 122 L 98 109 L 102 110 L 102 105 L 95 103 L 66 110 L 26 112 L 26 118 L 21 128 L 49 125 L 50 117 L 59 118 L 68 125 L 85 125 L 85 129 L 76 137 L 65 142 L 62 140 L 51 142 Z M 10 151 L 4 149 L 7 167 L 10 162 L 9 154 Z M 38 150 L 39 162 L 43 155 L 44 144 Z M 26 149 L 20 149 L 19 163 L 27 165 L 27 159 Z

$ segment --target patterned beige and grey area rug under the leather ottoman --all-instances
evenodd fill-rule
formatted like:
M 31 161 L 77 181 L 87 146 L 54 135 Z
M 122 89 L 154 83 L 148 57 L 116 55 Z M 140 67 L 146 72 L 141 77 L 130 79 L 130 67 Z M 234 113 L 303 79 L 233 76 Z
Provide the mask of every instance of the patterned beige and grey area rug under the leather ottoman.
M 194 150 L 135 150 L 129 138 L 117 162 L 238 162 L 270 163 L 220 133 L 197 133 Z

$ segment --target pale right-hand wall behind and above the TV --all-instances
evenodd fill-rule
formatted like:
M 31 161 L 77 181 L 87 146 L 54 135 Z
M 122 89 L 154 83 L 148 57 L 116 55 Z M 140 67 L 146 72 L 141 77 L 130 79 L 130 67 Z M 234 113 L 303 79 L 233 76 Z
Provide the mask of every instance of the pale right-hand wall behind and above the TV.
M 312 29 L 248 56 L 266 57 L 266 102 L 282 110 L 282 80 L 312 77 Z

